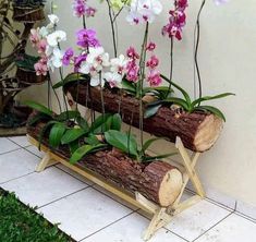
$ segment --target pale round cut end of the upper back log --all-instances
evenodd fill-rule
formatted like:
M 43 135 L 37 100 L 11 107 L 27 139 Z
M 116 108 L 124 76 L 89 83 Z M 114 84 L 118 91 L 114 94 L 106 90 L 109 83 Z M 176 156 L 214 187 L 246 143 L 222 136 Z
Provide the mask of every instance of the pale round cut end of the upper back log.
M 223 128 L 223 121 L 217 116 L 209 114 L 198 126 L 194 146 L 197 152 L 208 150 L 218 140 Z

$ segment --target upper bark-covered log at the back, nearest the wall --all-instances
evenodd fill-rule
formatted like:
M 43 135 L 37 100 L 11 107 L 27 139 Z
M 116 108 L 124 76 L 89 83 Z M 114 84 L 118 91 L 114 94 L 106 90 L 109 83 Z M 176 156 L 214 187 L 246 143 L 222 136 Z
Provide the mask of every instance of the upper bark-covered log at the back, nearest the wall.
M 65 92 L 70 105 L 77 97 L 80 105 L 85 106 L 87 102 L 88 108 L 101 112 L 100 90 L 98 88 L 87 87 L 86 84 L 81 83 L 78 88 L 77 84 L 68 85 Z M 73 100 L 69 97 L 72 97 Z M 120 110 L 123 121 L 127 124 L 132 123 L 136 128 L 139 126 L 139 101 L 136 98 L 125 95 L 121 99 L 117 92 L 106 88 L 103 99 L 106 111 L 112 113 L 118 112 L 121 101 Z M 156 136 L 166 137 L 173 143 L 179 136 L 186 148 L 203 153 L 214 146 L 222 126 L 223 121 L 211 113 L 199 111 L 188 113 L 163 106 L 154 117 L 144 119 L 143 128 L 144 131 Z

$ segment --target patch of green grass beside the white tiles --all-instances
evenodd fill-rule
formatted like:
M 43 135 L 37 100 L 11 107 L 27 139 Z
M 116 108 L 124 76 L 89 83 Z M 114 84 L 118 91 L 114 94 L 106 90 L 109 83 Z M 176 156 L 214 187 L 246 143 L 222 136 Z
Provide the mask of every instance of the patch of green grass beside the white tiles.
M 72 242 L 57 225 L 47 221 L 33 208 L 20 202 L 13 193 L 0 187 L 1 242 Z

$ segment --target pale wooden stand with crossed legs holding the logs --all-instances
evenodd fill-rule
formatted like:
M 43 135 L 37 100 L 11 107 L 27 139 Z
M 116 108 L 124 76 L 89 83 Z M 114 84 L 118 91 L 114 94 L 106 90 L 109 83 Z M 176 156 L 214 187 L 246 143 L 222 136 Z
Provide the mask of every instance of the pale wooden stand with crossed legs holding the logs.
M 33 138 L 32 136 L 27 137 L 33 145 L 38 147 L 38 142 L 35 138 Z M 121 197 L 122 199 L 129 202 L 137 208 L 141 208 L 146 213 L 153 215 L 150 223 L 143 235 L 143 239 L 147 241 L 155 234 L 158 229 L 167 226 L 176 214 L 191 207 L 192 205 L 196 204 L 205 197 L 204 189 L 195 171 L 195 166 L 198 160 L 199 153 L 194 153 L 193 158 L 191 158 L 180 137 L 176 137 L 175 147 L 178 148 L 183 160 L 182 166 L 178 165 L 182 169 L 181 171 L 183 174 L 183 186 L 175 202 L 169 207 L 160 207 L 159 205 L 153 203 L 151 201 L 148 201 L 146 197 L 144 197 L 137 192 L 135 193 L 135 196 L 133 196 L 131 193 L 127 193 L 125 190 L 122 190 L 117 185 L 109 183 L 108 181 L 102 179 L 102 177 L 92 172 L 90 170 L 81 169 L 76 165 L 71 165 L 68 160 L 56 155 L 45 145 L 41 145 L 41 150 L 45 152 L 46 155 L 36 168 L 36 171 L 41 172 L 47 167 L 61 162 L 65 167 L 70 168 L 71 170 L 74 170 L 75 172 L 80 173 L 81 176 L 85 177 L 97 185 L 102 186 L 107 191 L 113 193 L 114 195 Z M 181 197 L 184 194 L 185 187 L 190 180 L 195 187 L 196 195 L 187 198 L 184 202 L 181 202 Z

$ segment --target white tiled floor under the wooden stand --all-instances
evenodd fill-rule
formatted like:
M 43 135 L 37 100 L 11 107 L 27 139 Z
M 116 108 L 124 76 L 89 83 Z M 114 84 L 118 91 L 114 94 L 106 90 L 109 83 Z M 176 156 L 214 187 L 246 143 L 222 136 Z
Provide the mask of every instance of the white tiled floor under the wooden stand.
M 63 166 L 34 172 L 41 153 L 25 137 L 0 138 L 0 186 L 37 206 L 51 222 L 82 242 L 138 242 L 149 220 Z M 151 242 L 253 242 L 256 223 L 209 201 L 176 216 Z

